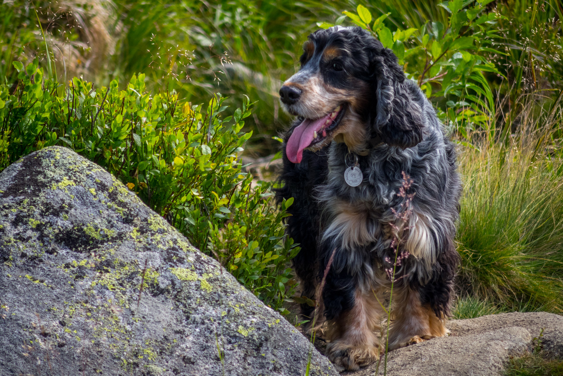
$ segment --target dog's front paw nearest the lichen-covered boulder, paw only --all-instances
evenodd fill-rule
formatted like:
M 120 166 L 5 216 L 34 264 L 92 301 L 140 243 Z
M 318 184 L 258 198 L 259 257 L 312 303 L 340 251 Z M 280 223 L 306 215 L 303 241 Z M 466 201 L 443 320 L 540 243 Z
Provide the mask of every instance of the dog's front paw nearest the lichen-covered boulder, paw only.
M 379 358 L 379 346 L 360 345 L 339 342 L 330 342 L 325 355 L 336 365 L 341 365 L 348 371 L 357 371 L 360 367 L 372 364 Z

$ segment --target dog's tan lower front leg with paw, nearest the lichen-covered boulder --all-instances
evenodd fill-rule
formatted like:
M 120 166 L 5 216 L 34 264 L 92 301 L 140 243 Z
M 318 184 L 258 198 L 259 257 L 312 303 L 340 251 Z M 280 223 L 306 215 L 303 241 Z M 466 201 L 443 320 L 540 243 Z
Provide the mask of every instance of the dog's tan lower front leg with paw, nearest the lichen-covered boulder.
M 329 359 L 348 370 L 358 370 L 360 366 L 376 361 L 383 350 L 377 336 L 381 332 L 379 317 L 382 312 L 372 291 L 362 293 L 356 290 L 354 307 L 342 313 L 338 320 L 329 322 Z

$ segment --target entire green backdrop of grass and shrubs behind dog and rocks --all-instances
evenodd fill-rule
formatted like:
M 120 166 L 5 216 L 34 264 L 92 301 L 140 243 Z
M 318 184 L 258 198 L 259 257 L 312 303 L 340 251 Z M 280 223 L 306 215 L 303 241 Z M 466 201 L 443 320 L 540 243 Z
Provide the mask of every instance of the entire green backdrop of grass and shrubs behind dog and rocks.
M 266 304 L 314 304 L 293 297 L 291 202 L 276 209 L 239 157 L 276 158 L 278 90 L 307 35 L 360 25 L 459 144 L 455 317 L 561 314 L 562 16 L 558 0 L 2 0 L 0 169 L 72 147 Z

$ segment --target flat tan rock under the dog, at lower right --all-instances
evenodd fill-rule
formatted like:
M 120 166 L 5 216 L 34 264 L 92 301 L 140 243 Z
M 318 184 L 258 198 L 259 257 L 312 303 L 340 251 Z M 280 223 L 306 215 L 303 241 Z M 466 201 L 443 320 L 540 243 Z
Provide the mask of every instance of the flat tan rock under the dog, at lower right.
M 563 317 L 553 313 L 503 313 L 448 322 L 450 337 L 435 338 L 391 351 L 388 376 L 493 376 L 501 375 L 510 356 L 531 350 L 544 329 L 543 349 L 563 356 Z M 347 376 L 374 376 L 371 365 Z M 383 375 L 379 366 L 378 375 Z

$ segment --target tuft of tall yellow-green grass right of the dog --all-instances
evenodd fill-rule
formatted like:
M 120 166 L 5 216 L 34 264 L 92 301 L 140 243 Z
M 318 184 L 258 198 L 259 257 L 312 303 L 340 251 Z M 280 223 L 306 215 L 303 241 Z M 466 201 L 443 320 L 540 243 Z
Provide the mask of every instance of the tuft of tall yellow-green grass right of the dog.
M 460 154 L 462 297 L 510 310 L 563 309 L 561 105 L 520 105 L 515 134 L 475 135 Z

